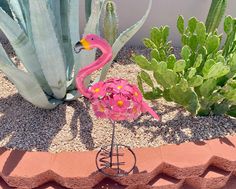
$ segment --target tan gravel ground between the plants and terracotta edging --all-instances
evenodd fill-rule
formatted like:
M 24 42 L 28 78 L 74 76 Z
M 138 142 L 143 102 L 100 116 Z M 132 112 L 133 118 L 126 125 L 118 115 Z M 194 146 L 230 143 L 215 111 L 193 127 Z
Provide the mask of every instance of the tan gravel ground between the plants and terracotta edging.
M 7 47 L 7 43 L 5 44 Z M 136 83 L 139 68 L 128 58 L 132 53 L 148 52 L 124 48 L 109 71 L 112 76 Z M 14 53 L 12 59 L 19 62 Z M 108 120 L 97 119 L 89 102 L 80 98 L 54 110 L 42 110 L 26 102 L 0 72 L 0 146 L 30 151 L 86 151 L 110 143 L 112 127 Z M 193 117 L 174 103 L 159 99 L 149 102 L 162 115 L 162 122 L 149 114 L 132 123 L 119 122 L 116 141 L 134 147 L 160 146 L 187 141 L 234 135 L 236 119 L 227 116 Z

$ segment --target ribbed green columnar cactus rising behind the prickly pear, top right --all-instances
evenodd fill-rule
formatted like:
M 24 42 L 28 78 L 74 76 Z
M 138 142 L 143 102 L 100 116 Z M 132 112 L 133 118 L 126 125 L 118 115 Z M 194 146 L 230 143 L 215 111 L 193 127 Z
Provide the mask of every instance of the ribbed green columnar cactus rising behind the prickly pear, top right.
M 227 0 L 212 0 L 206 19 L 207 32 L 214 32 L 218 28 L 227 7 Z

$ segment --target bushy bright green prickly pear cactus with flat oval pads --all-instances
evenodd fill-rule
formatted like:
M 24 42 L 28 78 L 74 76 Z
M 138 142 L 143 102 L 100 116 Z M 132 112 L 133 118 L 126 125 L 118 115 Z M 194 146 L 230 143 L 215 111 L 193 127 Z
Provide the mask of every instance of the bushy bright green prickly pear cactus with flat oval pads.
M 233 20 L 231 17 L 225 19 L 227 36 L 234 34 Z M 230 51 L 227 50 L 224 54 L 228 45 L 220 49 L 221 36 L 217 32 L 206 32 L 205 24 L 196 18 L 190 18 L 184 27 L 184 19 L 180 16 L 177 28 L 183 47 L 181 58 L 177 60 L 175 55 L 171 54 L 168 36 L 162 34 L 164 28 L 168 27 L 152 28 L 150 37 L 144 39 L 144 45 L 151 50 L 150 60 L 142 55 L 132 57 L 142 69 L 138 75 L 138 83 L 144 97 L 149 100 L 163 97 L 167 101 L 174 101 L 193 115 L 235 116 L 236 52 L 232 50 L 235 48 L 234 41 L 229 45 Z M 149 86 L 150 90 L 144 91 L 143 85 Z

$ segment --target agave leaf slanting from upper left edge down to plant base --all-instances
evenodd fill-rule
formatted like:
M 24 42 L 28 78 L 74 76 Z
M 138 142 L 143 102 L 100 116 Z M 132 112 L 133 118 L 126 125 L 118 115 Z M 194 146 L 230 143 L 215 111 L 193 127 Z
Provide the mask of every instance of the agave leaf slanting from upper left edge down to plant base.
M 35 48 L 31 41 L 26 36 L 25 32 L 20 28 L 20 26 L 12 20 L 2 9 L 0 9 L 0 29 L 7 36 L 17 56 L 24 64 L 28 72 L 35 75 L 43 89 L 47 94 L 51 95 L 51 89 L 47 84 L 47 81 L 42 72 L 41 66 L 39 64 L 37 55 L 35 53 Z

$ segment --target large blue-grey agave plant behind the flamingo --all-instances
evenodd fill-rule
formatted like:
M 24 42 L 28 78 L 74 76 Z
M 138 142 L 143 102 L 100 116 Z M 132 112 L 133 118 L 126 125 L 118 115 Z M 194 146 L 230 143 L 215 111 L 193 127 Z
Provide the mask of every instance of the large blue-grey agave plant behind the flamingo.
M 84 35 L 99 33 L 99 20 L 106 0 L 93 0 Z M 0 8 L 0 29 L 7 36 L 25 70 L 18 69 L 0 45 L 0 70 L 18 92 L 37 107 L 52 109 L 80 96 L 74 78 L 78 70 L 95 59 L 95 51 L 73 52 L 79 40 L 79 1 L 8 0 L 13 19 Z M 113 58 L 140 29 L 150 11 L 119 35 Z M 111 64 L 111 62 L 110 62 Z M 100 75 L 105 77 L 106 70 Z M 89 84 L 90 78 L 87 78 Z

